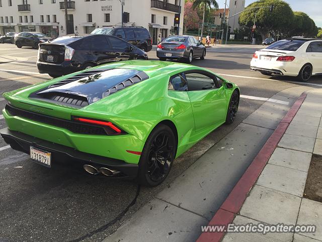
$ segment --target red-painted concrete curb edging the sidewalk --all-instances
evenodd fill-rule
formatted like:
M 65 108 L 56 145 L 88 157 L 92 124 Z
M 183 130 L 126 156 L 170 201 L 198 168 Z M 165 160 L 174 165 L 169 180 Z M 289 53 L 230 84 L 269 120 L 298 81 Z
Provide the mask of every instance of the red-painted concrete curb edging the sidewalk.
M 217 210 L 208 225 L 227 226 L 233 221 L 305 98 L 306 93 L 302 93 L 301 96 L 298 97 L 291 109 L 281 120 L 274 133 L 249 165 L 243 176 L 240 177 L 237 184 L 231 190 L 230 194 Z M 225 232 L 203 232 L 197 239 L 197 242 L 219 242 L 224 234 Z

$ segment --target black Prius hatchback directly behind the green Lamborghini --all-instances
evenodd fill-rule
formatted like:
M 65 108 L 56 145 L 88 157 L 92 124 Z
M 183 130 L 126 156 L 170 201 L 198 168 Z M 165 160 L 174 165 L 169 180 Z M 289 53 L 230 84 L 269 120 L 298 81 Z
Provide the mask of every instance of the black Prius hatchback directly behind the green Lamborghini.
M 115 36 L 63 36 L 39 44 L 37 67 L 40 73 L 59 77 L 128 59 L 147 59 L 147 54 Z

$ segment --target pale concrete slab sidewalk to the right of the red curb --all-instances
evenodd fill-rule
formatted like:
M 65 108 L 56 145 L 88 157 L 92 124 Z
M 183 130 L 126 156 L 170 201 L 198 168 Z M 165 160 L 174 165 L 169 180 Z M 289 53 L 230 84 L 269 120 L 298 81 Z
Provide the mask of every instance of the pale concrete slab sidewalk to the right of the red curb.
M 233 223 L 239 225 L 260 222 L 270 225 L 280 223 L 316 225 L 316 232 L 268 233 L 266 235 L 261 233 L 227 233 L 222 239 L 223 242 L 322 241 L 322 203 L 303 198 L 311 156 L 312 154 L 322 155 L 322 90 L 307 92 L 303 103 L 299 105 L 295 116 L 290 119 L 288 127 L 285 127 L 285 129 L 287 128 L 285 133 L 283 132 L 279 142 L 276 142 L 277 147 L 270 158 L 268 157 L 268 163 L 248 193 L 241 209 L 239 210 L 239 207 L 234 205 L 234 201 L 227 202 L 229 198 L 234 197 L 232 194 L 237 191 L 237 184 L 234 188 L 235 191 L 231 192 L 221 206 L 221 217 L 214 219 L 216 221 L 213 220 L 209 224 L 214 225 L 218 221 L 221 221 L 220 224 L 227 224 L 231 222 L 233 218 L 231 216 L 235 215 Z M 280 125 L 283 125 L 284 120 L 285 118 Z M 287 121 L 284 124 L 286 123 Z M 319 178 L 322 179 L 322 177 Z M 238 199 L 240 196 L 236 200 Z M 216 215 L 218 217 L 218 214 Z M 230 217 L 230 221 L 228 217 Z M 198 241 L 220 241 L 221 236 L 220 233 L 203 233 Z

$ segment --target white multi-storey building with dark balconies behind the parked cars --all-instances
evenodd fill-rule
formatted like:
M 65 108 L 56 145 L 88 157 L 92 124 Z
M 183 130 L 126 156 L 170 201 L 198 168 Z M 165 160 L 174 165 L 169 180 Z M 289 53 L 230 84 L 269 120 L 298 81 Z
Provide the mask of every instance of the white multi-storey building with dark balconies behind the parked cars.
M 0 0 L 0 33 L 37 31 L 56 37 L 121 25 L 120 0 L 68 0 L 67 26 L 64 8 L 63 0 Z M 167 37 L 175 33 L 174 18 L 180 13 L 182 34 L 184 0 L 125 0 L 124 12 L 129 13 L 125 25 L 145 27 L 154 43 L 159 34 Z

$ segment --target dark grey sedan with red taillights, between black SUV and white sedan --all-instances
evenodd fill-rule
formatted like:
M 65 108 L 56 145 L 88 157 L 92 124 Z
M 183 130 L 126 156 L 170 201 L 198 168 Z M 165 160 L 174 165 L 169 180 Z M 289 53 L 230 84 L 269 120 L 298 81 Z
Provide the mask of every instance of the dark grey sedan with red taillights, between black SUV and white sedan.
M 178 59 L 190 64 L 194 58 L 204 59 L 206 48 L 192 36 L 169 36 L 157 45 L 156 56 L 160 61 Z

